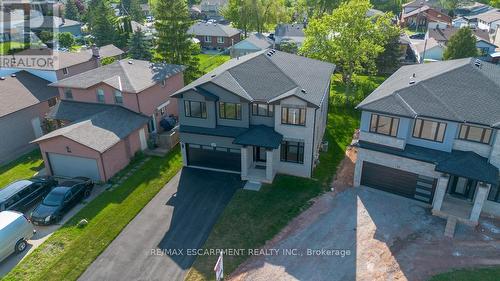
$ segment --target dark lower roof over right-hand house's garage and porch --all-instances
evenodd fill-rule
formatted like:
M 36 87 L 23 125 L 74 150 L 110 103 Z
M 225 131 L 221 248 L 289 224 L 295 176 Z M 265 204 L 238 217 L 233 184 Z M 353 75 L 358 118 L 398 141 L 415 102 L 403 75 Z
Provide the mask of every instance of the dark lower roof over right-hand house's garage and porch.
M 451 152 L 430 149 L 407 144 L 404 150 L 358 141 L 361 148 L 423 161 L 436 165 L 435 170 L 473 180 L 496 185 L 498 183 L 498 168 L 488 162 L 487 158 L 472 151 L 452 150 Z

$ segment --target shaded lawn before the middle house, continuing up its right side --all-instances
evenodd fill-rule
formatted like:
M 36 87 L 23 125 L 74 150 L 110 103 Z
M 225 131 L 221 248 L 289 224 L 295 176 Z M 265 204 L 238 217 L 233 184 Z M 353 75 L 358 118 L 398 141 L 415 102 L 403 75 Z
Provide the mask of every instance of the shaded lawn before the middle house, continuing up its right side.
M 359 77 L 356 86 L 372 91 L 373 81 L 384 78 Z M 340 80 L 334 80 L 333 95 L 339 95 Z M 376 85 L 372 85 L 375 86 Z M 369 92 L 363 93 L 364 95 Z M 278 175 L 271 185 L 264 185 L 259 192 L 239 190 L 224 210 L 205 249 L 254 249 L 272 239 L 290 220 L 310 205 L 310 200 L 328 187 L 344 151 L 350 144 L 354 130 L 359 127 L 359 112 L 352 106 L 338 106 L 330 100 L 330 112 L 325 138 L 329 150 L 320 157 L 313 179 Z M 248 256 L 225 256 L 224 272 L 233 272 Z M 214 280 L 213 266 L 217 257 L 199 256 L 186 277 L 188 281 Z

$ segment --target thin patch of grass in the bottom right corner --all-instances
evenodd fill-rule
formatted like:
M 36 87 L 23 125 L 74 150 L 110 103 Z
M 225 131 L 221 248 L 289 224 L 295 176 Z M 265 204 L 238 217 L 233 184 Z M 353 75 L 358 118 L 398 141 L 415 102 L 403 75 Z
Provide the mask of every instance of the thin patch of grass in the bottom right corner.
M 462 269 L 441 273 L 430 281 L 498 281 L 500 280 L 500 267 Z

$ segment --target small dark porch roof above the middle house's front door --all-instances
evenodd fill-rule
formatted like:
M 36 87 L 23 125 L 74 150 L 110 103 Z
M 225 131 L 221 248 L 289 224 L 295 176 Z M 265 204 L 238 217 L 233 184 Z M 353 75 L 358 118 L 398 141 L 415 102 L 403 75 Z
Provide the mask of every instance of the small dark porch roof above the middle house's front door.
M 277 149 L 282 140 L 283 135 L 276 132 L 273 128 L 264 125 L 257 125 L 250 126 L 246 132 L 237 136 L 233 143 Z

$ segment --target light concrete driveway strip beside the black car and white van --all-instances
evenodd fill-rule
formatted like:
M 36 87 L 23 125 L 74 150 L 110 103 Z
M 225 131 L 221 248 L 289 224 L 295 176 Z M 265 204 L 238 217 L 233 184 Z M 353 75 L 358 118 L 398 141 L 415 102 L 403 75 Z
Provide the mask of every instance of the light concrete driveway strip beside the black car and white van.
M 78 213 L 84 206 L 85 202 L 90 202 L 94 200 L 99 194 L 101 194 L 105 190 L 104 186 L 96 185 L 94 189 L 92 189 L 92 194 L 89 198 L 85 199 L 84 203 L 80 203 L 73 207 L 71 211 L 69 211 L 62 220 L 54 225 L 48 226 L 35 226 L 36 234 L 28 241 L 28 249 L 19 254 L 12 254 L 7 259 L 0 262 L 0 277 L 6 275 L 11 271 L 19 262 L 21 262 L 27 255 L 33 252 L 38 246 L 40 246 L 45 240 L 47 240 L 52 233 L 58 230 L 63 224 L 65 224 L 70 218 L 72 218 L 76 213 Z M 26 212 L 26 215 L 29 216 L 31 210 Z

